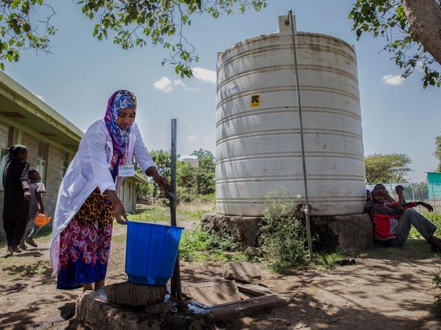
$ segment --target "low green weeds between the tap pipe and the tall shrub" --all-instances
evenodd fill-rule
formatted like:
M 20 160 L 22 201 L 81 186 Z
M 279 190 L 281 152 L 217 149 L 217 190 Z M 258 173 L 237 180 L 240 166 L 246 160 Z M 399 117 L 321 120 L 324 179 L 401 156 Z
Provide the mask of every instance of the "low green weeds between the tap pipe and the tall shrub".
M 196 227 L 184 231 L 179 245 L 179 256 L 183 261 L 246 261 L 244 247 L 232 236 L 203 232 Z

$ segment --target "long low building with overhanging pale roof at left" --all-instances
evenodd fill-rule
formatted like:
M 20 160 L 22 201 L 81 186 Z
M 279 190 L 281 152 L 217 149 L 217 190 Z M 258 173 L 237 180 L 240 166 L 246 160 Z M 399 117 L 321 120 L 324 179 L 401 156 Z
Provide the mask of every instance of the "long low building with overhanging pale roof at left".
M 28 162 L 46 186 L 45 210 L 54 214 L 61 179 L 72 161 L 83 132 L 9 76 L 0 72 L 0 230 L 3 231 L 3 167 L 8 147 L 28 147 Z M 135 183 L 147 184 L 139 174 L 126 178 L 120 198 L 125 210 L 136 209 Z

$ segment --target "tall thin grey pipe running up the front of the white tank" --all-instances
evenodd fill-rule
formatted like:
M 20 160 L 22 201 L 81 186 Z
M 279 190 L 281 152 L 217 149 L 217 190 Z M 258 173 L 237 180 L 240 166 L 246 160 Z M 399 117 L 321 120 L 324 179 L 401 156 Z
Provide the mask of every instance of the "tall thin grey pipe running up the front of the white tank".
M 294 73 L 295 73 L 294 86 L 296 87 L 296 94 L 297 94 L 298 122 L 300 125 L 300 147 L 302 154 L 303 186 L 305 189 L 305 202 L 303 203 L 302 211 L 303 213 L 305 213 L 306 231 L 308 236 L 309 262 L 312 263 L 311 224 L 309 223 L 308 184 L 307 184 L 306 162 L 305 162 L 305 140 L 303 137 L 302 103 L 300 102 L 300 84 L 298 83 L 296 32 L 294 31 L 294 19 L 292 17 L 291 9 L 288 11 L 287 19 L 285 20 L 285 25 L 291 25 L 291 41 L 292 41 L 292 50 L 294 54 Z

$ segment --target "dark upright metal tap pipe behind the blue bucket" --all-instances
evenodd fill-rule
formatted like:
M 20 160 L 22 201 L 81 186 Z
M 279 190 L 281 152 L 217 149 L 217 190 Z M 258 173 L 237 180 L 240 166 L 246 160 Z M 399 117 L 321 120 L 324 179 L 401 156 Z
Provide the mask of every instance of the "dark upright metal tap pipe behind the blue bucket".
M 176 131 L 177 120 L 172 119 L 172 181 L 170 182 L 170 225 L 176 227 Z M 176 256 L 176 263 L 174 265 L 174 272 L 172 276 L 172 283 L 170 285 L 170 295 L 178 301 L 182 301 L 182 286 L 181 286 L 181 267 L 179 266 L 179 250 Z

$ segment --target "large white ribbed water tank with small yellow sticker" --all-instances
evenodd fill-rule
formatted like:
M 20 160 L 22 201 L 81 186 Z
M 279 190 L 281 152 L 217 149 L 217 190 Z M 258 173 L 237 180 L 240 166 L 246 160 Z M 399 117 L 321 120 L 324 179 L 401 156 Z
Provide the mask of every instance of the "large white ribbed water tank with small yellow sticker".
M 265 197 L 304 195 L 289 25 L 218 54 L 216 208 L 259 216 Z M 362 213 L 365 201 L 356 53 L 345 41 L 296 32 L 311 214 Z M 301 202 L 302 199 L 299 200 Z

